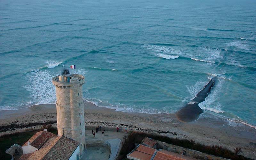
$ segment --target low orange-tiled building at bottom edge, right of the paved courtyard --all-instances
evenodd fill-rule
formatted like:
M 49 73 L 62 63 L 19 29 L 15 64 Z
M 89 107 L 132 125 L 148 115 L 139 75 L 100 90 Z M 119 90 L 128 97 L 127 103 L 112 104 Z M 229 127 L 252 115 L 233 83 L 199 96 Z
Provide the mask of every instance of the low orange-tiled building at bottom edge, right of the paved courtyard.
M 139 144 L 127 156 L 131 160 L 196 160 L 167 150 L 150 148 Z

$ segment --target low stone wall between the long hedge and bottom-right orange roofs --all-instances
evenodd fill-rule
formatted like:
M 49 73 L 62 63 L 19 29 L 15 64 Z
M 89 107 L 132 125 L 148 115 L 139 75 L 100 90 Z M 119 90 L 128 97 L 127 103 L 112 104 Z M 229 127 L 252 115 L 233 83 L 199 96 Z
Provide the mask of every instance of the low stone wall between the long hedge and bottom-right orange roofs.
M 226 158 L 218 157 L 218 156 L 213 156 L 213 155 L 208 155 L 206 153 L 202 153 L 196 150 L 188 149 L 188 148 L 183 148 L 180 146 L 168 144 L 159 140 L 157 141 L 157 149 L 165 149 L 171 152 L 179 153 L 185 156 L 193 157 L 196 159 L 202 159 L 202 160 L 227 160 Z

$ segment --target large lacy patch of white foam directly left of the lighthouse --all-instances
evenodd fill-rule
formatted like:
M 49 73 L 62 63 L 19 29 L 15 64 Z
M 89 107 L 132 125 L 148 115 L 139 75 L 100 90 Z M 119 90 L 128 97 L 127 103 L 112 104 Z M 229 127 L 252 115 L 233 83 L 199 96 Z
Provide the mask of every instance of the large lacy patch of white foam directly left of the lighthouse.
M 53 73 L 47 70 L 36 69 L 26 75 L 28 85 L 23 86 L 28 92 L 29 97 L 36 104 L 54 104 L 56 93 L 52 85 Z

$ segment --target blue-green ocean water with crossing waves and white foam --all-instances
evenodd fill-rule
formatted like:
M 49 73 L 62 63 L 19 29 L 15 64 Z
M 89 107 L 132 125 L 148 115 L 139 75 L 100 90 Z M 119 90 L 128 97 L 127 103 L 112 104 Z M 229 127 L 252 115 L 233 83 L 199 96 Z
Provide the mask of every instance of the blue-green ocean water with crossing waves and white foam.
M 55 103 L 76 65 L 85 100 L 124 112 L 174 113 L 217 76 L 203 115 L 256 125 L 254 0 L 1 0 L 0 46 L 0 110 Z

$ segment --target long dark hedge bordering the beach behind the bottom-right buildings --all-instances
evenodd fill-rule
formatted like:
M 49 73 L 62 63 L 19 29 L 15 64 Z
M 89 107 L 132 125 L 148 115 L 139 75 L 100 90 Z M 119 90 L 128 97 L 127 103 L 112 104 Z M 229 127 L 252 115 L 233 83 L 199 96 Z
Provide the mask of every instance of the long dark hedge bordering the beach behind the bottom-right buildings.
M 125 158 L 125 156 L 132 151 L 132 149 L 135 148 L 134 143 L 141 143 L 141 141 L 145 138 L 149 137 L 155 140 L 163 141 L 169 144 L 181 146 L 184 148 L 189 148 L 193 150 L 197 150 L 206 154 L 214 155 L 214 156 L 220 156 L 228 159 L 234 159 L 234 160 L 249 160 L 250 158 L 246 158 L 241 155 L 237 155 L 238 153 L 241 153 L 241 148 L 235 148 L 234 151 L 231 151 L 227 148 L 222 148 L 221 146 L 213 145 L 213 146 L 206 146 L 200 143 L 196 143 L 193 140 L 185 140 L 185 139 L 177 139 L 177 138 L 170 138 L 167 136 L 161 136 L 157 134 L 150 134 L 145 132 L 132 132 L 128 136 L 124 137 L 124 141 L 122 143 L 122 148 L 120 151 L 120 154 L 118 156 L 118 159 L 121 160 Z M 160 149 L 160 148 L 159 148 Z

